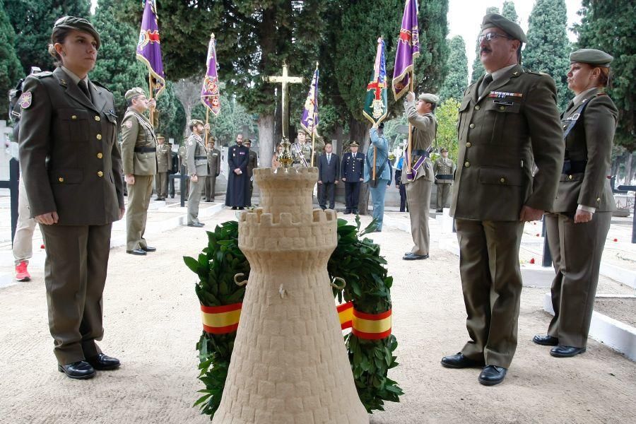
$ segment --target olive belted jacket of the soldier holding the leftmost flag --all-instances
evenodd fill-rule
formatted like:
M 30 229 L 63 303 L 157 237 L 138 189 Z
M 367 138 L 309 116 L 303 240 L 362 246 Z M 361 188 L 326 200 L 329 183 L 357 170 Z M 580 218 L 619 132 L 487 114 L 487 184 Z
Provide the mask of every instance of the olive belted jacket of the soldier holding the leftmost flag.
M 155 126 L 158 123 L 155 111 Z M 157 173 L 157 136 L 148 118 L 129 107 L 122 120 L 122 160 L 124 174 Z

